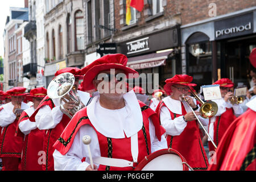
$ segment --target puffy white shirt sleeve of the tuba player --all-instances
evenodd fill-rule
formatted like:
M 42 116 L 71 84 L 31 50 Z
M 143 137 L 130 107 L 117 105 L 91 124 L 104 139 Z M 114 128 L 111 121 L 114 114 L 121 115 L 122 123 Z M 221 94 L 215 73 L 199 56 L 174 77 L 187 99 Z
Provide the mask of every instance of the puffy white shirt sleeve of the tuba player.
M 60 106 L 51 108 L 48 105 L 44 105 L 35 115 L 36 126 L 39 130 L 53 129 L 60 123 L 63 117 L 63 112 L 60 110 Z

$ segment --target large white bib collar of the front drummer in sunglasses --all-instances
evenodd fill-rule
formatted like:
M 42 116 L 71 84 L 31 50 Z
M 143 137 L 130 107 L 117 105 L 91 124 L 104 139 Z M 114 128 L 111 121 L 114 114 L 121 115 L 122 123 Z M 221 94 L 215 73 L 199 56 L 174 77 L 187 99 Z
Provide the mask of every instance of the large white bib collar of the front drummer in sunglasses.
M 125 107 L 119 110 L 102 109 L 99 99 L 100 96 L 93 98 L 92 102 L 87 106 L 87 114 L 92 125 L 102 135 L 110 138 L 125 138 L 126 135 L 129 138 L 142 129 L 141 107 L 133 90 L 123 95 Z M 127 114 L 121 120 L 118 117 L 118 113 L 123 113 L 123 109 Z M 108 115 L 108 112 L 111 115 Z M 117 112 L 117 115 L 114 115 L 114 112 Z

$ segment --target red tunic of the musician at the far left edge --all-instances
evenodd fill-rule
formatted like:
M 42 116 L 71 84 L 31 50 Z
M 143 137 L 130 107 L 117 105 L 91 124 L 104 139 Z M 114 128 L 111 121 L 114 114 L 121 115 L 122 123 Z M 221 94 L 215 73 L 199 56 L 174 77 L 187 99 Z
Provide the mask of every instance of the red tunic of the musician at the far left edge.
M 1 109 L 2 110 L 2 109 Z M 0 158 L 20 158 L 23 147 L 22 135 L 15 135 L 18 119 L 15 119 L 10 125 L 1 128 L 0 137 Z

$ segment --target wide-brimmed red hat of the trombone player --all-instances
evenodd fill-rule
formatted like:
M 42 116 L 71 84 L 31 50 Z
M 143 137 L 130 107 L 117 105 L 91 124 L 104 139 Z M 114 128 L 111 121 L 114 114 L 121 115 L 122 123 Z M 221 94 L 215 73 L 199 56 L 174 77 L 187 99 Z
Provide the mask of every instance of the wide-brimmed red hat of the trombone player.
M 179 84 L 186 86 L 196 86 L 196 84 L 191 83 L 192 80 L 193 77 L 189 75 L 175 75 L 172 78 L 166 79 L 166 85 L 164 85 L 164 90 L 166 91 L 167 94 L 170 95 L 170 93 L 172 93 L 172 85 Z

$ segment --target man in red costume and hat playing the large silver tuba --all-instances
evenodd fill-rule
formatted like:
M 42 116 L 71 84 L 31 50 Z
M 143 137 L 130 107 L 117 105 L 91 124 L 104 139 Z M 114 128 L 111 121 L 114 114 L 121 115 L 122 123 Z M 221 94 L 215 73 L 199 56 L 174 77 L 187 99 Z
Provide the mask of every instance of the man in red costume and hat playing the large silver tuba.
M 60 69 L 55 73 L 55 76 L 61 73 L 72 73 L 75 76 L 75 86 L 76 89 L 79 88 L 79 79 L 84 76 L 80 75 L 81 69 L 79 68 L 64 68 Z M 84 105 L 89 101 L 89 94 L 77 90 L 79 97 Z M 74 102 L 69 101 L 64 104 L 65 109 L 72 109 L 74 107 Z M 31 115 L 30 121 L 35 122 L 39 130 L 46 130 L 46 135 L 44 136 L 43 151 L 46 156 L 45 163 L 43 163 L 43 171 L 53 171 L 54 161 L 53 161 L 53 151 L 52 147 L 56 140 L 60 137 L 60 134 L 68 125 L 70 118 L 60 110 L 59 99 L 51 99 L 48 96 L 44 97 L 43 101 L 40 103 L 35 112 Z

